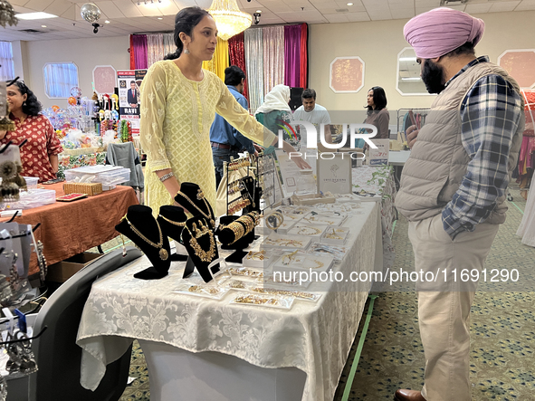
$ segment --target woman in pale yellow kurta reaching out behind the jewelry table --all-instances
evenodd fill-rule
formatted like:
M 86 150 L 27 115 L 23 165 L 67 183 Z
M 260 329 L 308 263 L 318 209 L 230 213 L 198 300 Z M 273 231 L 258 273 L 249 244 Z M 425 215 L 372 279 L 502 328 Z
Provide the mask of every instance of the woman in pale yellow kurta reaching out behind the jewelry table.
M 141 85 L 140 140 L 147 152 L 145 202 L 158 214 L 170 205 L 181 182 L 201 187 L 215 206 L 215 170 L 210 127 L 217 112 L 245 137 L 265 147 L 276 143 L 214 73 L 202 62 L 215 52 L 214 19 L 199 7 L 182 9 L 175 17 L 177 53 L 154 63 Z M 285 151 L 294 151 L 287 143 Z M 300 167 L 307 167 L 300 158 Z M 177 204 L 175 204 L 177 205 Z

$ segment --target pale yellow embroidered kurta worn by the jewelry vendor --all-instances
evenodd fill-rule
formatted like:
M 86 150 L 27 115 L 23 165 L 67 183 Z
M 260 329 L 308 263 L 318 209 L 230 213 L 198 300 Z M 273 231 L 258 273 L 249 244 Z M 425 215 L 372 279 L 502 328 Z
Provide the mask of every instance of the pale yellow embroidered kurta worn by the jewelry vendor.
M 145 204 L 158 214 L 173 197 L 155 171 L 171 168 L 179 182 L 201 187 L 215 209 L 215 169 L 210 127 L 215 113 L 260 145 L 269 147 L 275 135 L 263 128 L 234 99 L 225 83 L 203 70 L 202 81 L 188 80 L 172 60 L 155 62 L 141 84 L 141 146 L 147 153 Z

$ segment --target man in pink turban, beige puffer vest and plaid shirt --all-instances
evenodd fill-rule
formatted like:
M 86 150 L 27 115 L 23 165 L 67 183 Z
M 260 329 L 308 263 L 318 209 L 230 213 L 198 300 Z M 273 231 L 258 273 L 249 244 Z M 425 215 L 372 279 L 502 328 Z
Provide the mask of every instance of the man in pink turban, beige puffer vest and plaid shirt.
M 396 196 L 425 278 L 416 284 L 425 385 L 397 390 L 397 401 L 471 399 L 470 308 L 505 221 L 524 127 L 517 82 L 488 57 L 475 57 L 483 30 L 482 20 L 449 8 L 419 14 L 404 29 L 427 91 L 438 96 L 425 126 L 407 130 L 412 152 Z

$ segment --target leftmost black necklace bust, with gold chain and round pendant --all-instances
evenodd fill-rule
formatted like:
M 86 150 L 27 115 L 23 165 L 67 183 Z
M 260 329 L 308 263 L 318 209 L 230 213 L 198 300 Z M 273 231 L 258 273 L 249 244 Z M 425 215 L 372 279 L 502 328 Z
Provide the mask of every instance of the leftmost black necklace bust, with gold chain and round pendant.
M 152 267 L 137 272 L 134 277 L 142 280 L 157 280 L 167 276 L 171 265 L 169 241 L 153 217 L 150 207 L 129 206 L 127 215 L 121 219 L 115 229 L 138 245 L 152 263 Z

